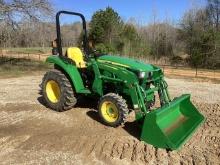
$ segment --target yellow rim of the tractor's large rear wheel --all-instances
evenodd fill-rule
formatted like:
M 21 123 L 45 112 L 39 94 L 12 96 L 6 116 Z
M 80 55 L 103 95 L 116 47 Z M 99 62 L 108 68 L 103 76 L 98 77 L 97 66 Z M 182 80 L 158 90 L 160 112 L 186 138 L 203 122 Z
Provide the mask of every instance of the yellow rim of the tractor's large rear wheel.
M 46 94 L 47 98 L 52 103 L 57 103 L 60 99 L 60 87 L 57 82 L 50 80 L 46 84 Z

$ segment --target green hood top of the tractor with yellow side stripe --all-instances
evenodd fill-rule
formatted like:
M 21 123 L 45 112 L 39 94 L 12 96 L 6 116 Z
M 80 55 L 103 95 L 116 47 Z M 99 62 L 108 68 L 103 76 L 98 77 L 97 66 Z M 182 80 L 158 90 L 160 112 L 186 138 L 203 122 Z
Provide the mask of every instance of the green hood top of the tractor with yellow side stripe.
M 145 64 L 135 59 L 119 56 L 103 55 L 101 57 L 98 57 L 97 61 L 127 67 L 139 71 L 155 71 L 159 69 L 158 67 L 151 64 Z

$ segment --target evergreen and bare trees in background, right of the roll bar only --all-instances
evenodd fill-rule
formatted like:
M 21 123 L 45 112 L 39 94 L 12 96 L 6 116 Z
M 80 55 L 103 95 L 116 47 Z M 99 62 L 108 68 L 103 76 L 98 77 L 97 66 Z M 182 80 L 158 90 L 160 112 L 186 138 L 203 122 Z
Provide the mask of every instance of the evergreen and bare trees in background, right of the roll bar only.
M 220 34 L 218 20 L 213 18 L 219 14 L 215 11 L 220 7 L 218 4 L 209 0 L 204 9 L 189 10 L 179 29 L 168 23 L 156 23 L 146 29 L 147 33 L 140 33 L 134 23 L 124 23 L 116 11 L 107 7 L 93 15 L 89 39 L 104 54 L 150 54 L 155 59 L 168 57 L 174 63 L 184 63 L 178 57 L 183 52 L 189 55 L 188 63 L 193 67 L 218 67 Z

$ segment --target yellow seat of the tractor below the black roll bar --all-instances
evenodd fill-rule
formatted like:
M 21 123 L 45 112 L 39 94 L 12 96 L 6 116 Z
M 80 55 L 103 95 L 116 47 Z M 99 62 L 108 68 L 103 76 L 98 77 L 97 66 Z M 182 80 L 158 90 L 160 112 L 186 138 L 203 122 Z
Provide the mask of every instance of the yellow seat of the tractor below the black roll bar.
M 83 59 L 82 51 L 77 47 L 67 48 L 67 57 L 76 63 L 77 68 L 85 68 L 86 62 Z

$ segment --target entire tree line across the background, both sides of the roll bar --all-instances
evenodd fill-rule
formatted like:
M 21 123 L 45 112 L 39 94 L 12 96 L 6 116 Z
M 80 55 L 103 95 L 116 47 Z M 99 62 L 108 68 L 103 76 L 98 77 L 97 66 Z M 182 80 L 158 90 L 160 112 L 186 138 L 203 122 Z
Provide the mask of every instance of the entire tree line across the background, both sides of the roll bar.
M 0 0 L 0 9 L 0 47 L 49 47 L 55 39 L 49 1 Z M 14 17 L 17 13 L 19 19 Z M 220 0 L 207 0 L 205 7 L 188 10 L 178 24 L 154 18 L 148 25 L 139 25 L 134 19 L 124 21 L 107 7 L 96 11 L 88 22 L 88 38 L 100 53 L 220 68 L 219 15 Z M 81 45 L 80 22 L 62 24 L 61 29 L 64 47 Z

